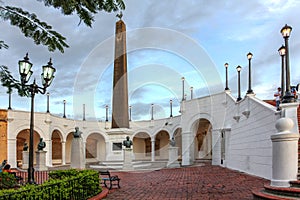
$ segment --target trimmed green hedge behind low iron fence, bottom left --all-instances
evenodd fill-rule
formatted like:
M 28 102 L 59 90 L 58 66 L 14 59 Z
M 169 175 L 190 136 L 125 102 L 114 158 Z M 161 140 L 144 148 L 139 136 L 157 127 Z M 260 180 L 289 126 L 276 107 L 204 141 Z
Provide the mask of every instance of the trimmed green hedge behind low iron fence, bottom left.
M 0 199 L 87 199 L 102 191 L 94 170 L 58 170 L 42 185 L 27 184 L 18 190 L 0 190 Z M 5 196 L 5 197 L 4 197 Z

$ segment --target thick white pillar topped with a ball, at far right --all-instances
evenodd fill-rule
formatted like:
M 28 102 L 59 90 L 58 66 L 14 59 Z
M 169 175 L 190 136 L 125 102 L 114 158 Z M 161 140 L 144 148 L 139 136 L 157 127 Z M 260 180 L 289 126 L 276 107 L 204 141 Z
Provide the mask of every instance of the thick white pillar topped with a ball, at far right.
M 290 118 L 280 118 L 276 122 L 278 133 L 272 140 L 271 186 L 290 187 L 289 182 L 297 180 L 299 134 L 292 133 L 294 122 Z

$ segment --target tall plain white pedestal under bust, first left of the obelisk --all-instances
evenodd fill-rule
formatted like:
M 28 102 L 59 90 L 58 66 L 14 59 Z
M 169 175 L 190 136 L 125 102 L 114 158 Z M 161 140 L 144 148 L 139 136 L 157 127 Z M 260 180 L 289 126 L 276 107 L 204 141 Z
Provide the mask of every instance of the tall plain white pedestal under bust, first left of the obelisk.
M 71 168 L 85 168 L 84 144 L 82 138 L 73 138 L 71 147 Z

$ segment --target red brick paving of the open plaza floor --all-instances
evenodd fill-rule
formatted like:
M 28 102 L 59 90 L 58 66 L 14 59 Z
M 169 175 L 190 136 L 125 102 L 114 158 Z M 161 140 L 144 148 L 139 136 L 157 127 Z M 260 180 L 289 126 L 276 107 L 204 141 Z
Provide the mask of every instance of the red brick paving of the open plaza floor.
M 147 172 L 117 172 L 121 188 L 106 199 L 253 199 L 252 190 L 268 180 L 219 166 L 193 166 Z

